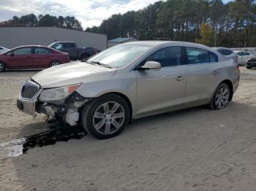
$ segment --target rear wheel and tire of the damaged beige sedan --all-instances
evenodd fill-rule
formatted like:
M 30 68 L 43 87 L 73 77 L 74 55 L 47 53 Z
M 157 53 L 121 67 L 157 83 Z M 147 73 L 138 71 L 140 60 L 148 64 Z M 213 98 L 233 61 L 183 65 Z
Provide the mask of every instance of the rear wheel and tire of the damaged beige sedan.
M 230 97 L 230 88 L 227 84 L 222 83 L 215 90 L 214 95 L 211 98 L 211 102 L 208 105 L 209 109 L 217 110 L 223 109 L 227 106 L 228 98 Z

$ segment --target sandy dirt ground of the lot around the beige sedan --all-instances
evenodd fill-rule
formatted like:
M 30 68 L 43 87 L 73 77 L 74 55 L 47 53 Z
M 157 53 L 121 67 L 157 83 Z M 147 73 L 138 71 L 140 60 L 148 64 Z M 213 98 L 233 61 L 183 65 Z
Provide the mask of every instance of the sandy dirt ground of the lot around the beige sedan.
M 15 106 L 37 71 L 0 74 L 0 143 L 42 132 Z M 114 139 L 59 141 L 0 160 L 0 190 L 256 190 L 256 70 L 241 67 L 220 111 L 186 109 L 137 120 Z

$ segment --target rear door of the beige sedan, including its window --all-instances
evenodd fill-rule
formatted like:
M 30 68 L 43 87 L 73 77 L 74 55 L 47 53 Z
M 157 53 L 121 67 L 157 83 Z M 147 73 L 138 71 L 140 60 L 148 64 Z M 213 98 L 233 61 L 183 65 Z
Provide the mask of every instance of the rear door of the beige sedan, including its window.
M 187 85 L 184 104 L 194 106 L 208 104 L 217 87 L 220 64 L 213 52 L 197 47 L 186 47 Z

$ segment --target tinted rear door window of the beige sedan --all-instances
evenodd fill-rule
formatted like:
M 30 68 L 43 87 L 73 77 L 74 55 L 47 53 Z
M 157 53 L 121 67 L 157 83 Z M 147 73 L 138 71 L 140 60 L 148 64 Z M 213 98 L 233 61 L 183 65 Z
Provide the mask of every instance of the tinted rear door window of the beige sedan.
M 187 47 L 187 62 L 193 63 L 208 63 L 208 51 L 196 47 Z

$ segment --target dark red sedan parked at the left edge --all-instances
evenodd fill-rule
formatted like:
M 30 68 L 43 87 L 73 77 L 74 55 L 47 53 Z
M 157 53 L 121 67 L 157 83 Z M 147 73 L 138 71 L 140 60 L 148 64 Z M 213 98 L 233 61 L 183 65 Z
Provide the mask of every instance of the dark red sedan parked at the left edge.
M 45 69 L 69 62 L 69 55 L 65 52 L 44 46 L 22 46 L 0 54 L 0 71 Z

